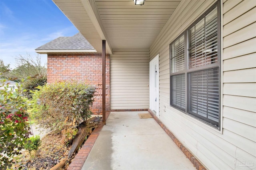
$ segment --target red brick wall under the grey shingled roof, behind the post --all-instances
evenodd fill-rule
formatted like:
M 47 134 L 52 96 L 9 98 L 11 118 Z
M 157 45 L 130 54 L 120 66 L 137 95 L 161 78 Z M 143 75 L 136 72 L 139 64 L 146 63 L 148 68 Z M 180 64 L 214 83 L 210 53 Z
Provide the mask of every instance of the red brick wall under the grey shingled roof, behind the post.
M 47 82 L 81 80 L 96 86 L 92 106 L 94 114 L 102 114 L 102 55 L 48 55 Z M 106 55 L 106 111 L 110 111 L 110 55 Z

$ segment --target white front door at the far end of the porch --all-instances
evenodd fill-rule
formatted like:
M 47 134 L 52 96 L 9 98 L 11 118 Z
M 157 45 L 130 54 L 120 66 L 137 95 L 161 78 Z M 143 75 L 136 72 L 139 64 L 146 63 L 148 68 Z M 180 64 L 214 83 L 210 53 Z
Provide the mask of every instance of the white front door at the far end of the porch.
M 159 117 L 159 55 L 150 61 L 150 109 Z

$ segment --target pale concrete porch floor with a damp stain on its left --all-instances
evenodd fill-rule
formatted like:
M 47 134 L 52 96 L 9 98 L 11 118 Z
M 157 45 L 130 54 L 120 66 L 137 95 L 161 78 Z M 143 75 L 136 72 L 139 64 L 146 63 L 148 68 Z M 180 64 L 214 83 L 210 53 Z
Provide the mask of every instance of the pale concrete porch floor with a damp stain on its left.
M 111 112 L 82 170 L 195 170 L 147 111 Z

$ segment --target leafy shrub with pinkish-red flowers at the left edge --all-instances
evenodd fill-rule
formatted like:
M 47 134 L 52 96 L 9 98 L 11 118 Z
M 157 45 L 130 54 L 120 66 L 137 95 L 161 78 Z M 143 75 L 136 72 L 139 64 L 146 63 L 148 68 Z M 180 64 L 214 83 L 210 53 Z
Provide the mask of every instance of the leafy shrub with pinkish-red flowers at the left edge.
M 24 80 L 23 80 L 24 81 Z M 22 83 L 10 87 L 6 80 L 0 80 L 0 167 L 6 169 L 14 156 L 20 154 L 28 138 L 27 99 L 22 92 Z

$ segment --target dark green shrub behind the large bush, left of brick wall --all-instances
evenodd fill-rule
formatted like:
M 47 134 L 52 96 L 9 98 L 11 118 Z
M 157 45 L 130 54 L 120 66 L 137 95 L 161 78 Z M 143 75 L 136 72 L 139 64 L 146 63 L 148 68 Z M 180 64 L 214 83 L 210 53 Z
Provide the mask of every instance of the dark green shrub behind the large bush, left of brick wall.
M 24 92 L 25 96 L 28 99 L 31 99 L 32 92 L 30 90 L 38 90 L 36 87 L 44 86 L 46 83 L 47 83 L 46 76 L 30 78 L 30 80 L 26 81 L 23 85 L 23 87 L 27 90 L 26 92 Z

